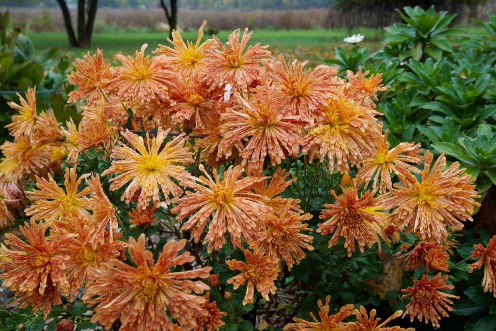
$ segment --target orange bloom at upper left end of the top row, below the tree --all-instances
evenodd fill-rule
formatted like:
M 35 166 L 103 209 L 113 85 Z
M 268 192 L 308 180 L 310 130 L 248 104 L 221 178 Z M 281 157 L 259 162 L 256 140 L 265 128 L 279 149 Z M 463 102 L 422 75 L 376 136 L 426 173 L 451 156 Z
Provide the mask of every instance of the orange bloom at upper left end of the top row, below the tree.
M 103 51 L 98 49 L 96 54 L 86 53 L 84 60 L 76 59 L 76 71 L 71 71 L 67 75 L 69 83 L 76 85 L 77 89 L 69 92 L 67 102 L 74 102 L 88 97 L 88 104 L 97 103 L 102 93 L 100 89 L 106 87 L 104 80 L 112 77 L 110 64 L 103 61 Z

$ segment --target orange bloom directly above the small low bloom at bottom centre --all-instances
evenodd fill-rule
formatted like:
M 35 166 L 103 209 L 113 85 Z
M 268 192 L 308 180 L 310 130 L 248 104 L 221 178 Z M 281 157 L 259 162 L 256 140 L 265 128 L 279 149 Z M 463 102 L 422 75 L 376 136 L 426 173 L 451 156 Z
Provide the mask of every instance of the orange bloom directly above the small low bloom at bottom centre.
M 261 229 L 258 239 L 251 246 L 258 247 L 262 254 L 276 259 L 282 258 L 291 270 L 294 264 L 305 258 L 304 249 L 313 251 L 313 237 L 303 231 L 312 231 L 308 224 L 303 223 L 312 218 L 310 213 L 300 215 L 290 211 L 291 202 L 279 215 L 269 214 L 261 217 Z

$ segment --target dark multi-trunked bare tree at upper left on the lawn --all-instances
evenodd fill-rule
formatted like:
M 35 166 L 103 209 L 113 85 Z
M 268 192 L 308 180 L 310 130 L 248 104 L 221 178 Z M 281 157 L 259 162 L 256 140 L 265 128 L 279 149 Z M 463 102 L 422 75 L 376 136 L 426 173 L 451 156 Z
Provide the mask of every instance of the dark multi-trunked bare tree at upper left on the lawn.
M 62 9 L 65 31 L 72 47 L 89 47 L 93 35 L 98 0 L 77 0 L 77 37 L 66 0 L 57 0 Z

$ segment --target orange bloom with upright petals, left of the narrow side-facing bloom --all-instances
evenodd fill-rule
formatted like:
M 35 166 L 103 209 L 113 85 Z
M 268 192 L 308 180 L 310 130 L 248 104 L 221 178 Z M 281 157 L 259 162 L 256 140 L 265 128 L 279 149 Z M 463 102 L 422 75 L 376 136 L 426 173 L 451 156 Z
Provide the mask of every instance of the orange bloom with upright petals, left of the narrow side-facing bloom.
M 34 220 L 44 220 L 51 223 L 62 217 L 88 218 L 90 216 L 86 196 L 91 189 L 86 187 L 77 192 L 79 184 L 88 175 L 77 178 L 76 168 L 65 168 L 65 191 L 57 185 L 52 176 L 45 178 L 36 176 L 36 186 L 39 190 L 26 192 L 33 203 L 26 209 L 26 215 Z

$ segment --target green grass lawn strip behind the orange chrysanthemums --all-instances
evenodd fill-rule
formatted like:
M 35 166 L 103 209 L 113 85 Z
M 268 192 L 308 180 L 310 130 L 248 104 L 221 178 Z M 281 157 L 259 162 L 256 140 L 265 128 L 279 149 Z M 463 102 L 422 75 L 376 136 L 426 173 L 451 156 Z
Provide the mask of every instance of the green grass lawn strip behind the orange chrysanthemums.
M 232 31 L 220 31 L 217 37 L 225 42 Z M 314 66 L 321 63 L 325 58 L 334 54 L 334 47 L 351 47 L 343 42 L 343 38 L 362 33 L 365 41 L 362 45 L 370 46 L 373 50 L 380 47 L 379 41 L 384 36 L 382 29 L 313 29 L 313 30 L 256 30 L 251 36 L 250 43 L 270 45 L 270 50 L 275 53 L 284 53 L 290 57 L 309 60 Z M 112 55 L 133 54 L 139 50 L 141 45 L 147 43 L 147 53 L 154 50 L 158 44 L 168 44 L 168 34 L 165 32 L 102 32 L 93 36 L 91 49 L 69 48 L 67 36 L 64 32 L 31 32 L 29 37 L 36 49 L 41 50 L 48 47 L 62 47 L 70 50 L 74 56 L 81 57 L 88 50 L 94 52 L 96 48 L 103 49 L 105 57 Z M 197 31 L 182 33 L 183 39 L 196 40 Z M 204 37 L 205 39 L 206 37 Z

